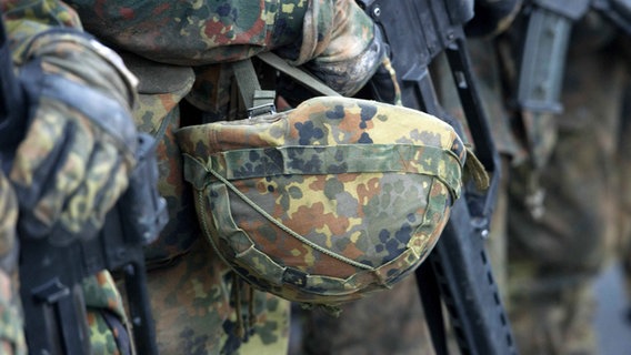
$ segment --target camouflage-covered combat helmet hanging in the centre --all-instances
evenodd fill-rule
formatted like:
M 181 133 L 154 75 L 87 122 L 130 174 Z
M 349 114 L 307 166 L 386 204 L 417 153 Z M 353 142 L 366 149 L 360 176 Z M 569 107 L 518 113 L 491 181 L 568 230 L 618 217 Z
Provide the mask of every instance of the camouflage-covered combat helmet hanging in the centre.
M 435 245 L 465 149 L 423 112 L 349 98 L 177 132 L 202 230 L 246 281 L 338 305 L 391 288 Z

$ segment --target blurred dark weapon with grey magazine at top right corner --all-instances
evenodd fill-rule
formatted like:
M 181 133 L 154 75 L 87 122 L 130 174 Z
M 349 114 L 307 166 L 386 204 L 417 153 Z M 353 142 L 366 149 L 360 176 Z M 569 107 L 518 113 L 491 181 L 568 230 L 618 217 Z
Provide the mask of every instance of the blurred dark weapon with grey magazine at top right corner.
M 631 34 L 630 0 L 528 0 L 523 3 L 522 28 L 511 38 L 519 63 L 517 87 L 512 90 L 520 119 L 530 130 L 535 130 L 525 132 L 531 149 L 542 135 L 535 122 L 541 114 L 563 111 L 560 97 L 571 31 L 590 9 L 600 12 L 623 33 Z M 537 151 L 530 155 L 534 168 L 545 164 L 547 156 Z

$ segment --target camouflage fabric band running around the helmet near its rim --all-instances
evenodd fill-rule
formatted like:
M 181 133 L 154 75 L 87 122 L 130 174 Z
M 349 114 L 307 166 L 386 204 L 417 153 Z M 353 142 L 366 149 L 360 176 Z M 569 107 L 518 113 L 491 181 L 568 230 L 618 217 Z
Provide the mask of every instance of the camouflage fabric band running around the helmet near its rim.
M 256 156 L 253 169 L 244 162 Z M 228 180 L 340 173 L 404 172 L 435 176 L 457 199 L 461 165 L 451 151 L 410 144 L 298 145 L 241 149 L 209 156 L 211 166 Z

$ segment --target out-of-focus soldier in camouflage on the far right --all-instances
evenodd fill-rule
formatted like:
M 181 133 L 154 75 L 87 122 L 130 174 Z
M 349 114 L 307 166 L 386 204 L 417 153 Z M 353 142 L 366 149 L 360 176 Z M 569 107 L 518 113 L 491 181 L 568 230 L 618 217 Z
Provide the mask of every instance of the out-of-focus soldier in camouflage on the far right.
M 529 11 L 499 40 L 470 41 L 490 118 L 500 119 L 493 138 L 507 173 L 508 191 L 500 187 L 507 211 L 498 205 L 489 242 L 492 250 L 501 246 L 505 233 L 508 255 L 501 262 L 502 246 L 490 256 L 495 275 L 507 273 L 499 282 L 508 287 L 500 291 L 521 354 L 595 354 L 593 280 L 629 233 L 622 109 L 628 57 L 611 22 L 595 11 L 582 16 L 565 63 L 563 113 L 529 112 L 524 119 L 514 90 L 522 50 L 517 43 Z

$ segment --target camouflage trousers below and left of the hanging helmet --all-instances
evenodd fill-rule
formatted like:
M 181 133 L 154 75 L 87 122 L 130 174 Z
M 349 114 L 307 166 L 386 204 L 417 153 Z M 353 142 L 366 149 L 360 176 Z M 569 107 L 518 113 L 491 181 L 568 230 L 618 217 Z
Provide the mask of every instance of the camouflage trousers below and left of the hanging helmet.
M 199 240 L 176 264 L 149 273 L 160 353 L 287 353 L 289 302 L 234 283 L 208 244 Z M 227 298 L 236 292 L 240 298 Z

